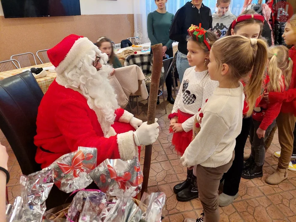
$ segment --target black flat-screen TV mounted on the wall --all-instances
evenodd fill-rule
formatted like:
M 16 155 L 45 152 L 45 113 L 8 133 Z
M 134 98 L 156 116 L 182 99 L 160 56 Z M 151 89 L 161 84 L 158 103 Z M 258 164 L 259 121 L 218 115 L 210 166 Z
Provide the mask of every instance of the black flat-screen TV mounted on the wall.
M 5 18 L 81 15 L 80 0 L 1 0 Z

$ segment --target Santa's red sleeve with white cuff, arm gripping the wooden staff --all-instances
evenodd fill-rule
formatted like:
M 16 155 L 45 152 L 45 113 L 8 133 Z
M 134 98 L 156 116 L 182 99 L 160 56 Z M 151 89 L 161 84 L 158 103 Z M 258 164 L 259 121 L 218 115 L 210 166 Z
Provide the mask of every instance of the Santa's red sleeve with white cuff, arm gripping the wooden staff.
M 107 158 L 132 159 L 138 152 L 133 131 L 109 138 L 97 136 L 83 103 L 64 103 L 57 110 L 55 121 L 71 151 L 76 151 L 78 146 L 97 148 L 97 164 Z

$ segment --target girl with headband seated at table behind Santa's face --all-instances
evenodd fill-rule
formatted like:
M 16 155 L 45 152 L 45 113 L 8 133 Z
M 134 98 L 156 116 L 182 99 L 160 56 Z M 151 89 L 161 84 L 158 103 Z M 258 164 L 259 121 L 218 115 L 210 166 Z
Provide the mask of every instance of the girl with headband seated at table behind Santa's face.
M 120 68 L 122 67 L 119 59 L 115 55 L 113 51 L 113 46 L 111 40 L 107 37 L 101 37 L 97 40 L 95 45 L 103 52 L 108 55 L 109 61 L 108 64 L 112 65 L 113 68 Z

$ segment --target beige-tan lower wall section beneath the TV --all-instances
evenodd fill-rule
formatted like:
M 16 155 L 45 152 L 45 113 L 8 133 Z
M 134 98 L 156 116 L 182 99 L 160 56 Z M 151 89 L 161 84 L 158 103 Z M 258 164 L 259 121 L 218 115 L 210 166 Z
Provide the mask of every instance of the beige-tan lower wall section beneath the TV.
M 134 35 L 134 15 L 96 14 L 19 19 L 4 19 L 4 16 L 0 16 L 0 61 L 28 51 L 36 54 L 38 50 L 55 46 L 72 33 L 83 35 L 92 42 L 100 36 L 107 36 L 115 43 L 120 43 L 122 39 Z

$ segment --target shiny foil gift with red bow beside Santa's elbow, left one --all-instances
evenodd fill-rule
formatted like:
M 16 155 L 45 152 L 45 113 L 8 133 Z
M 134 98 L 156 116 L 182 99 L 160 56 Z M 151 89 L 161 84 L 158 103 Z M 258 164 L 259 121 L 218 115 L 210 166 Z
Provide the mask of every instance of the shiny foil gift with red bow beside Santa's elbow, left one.
M 78 147 L 49 167 L 54 170 L 55 185 L 66 193 L 80 190 L 92 183 L 88 175 L 97 165 L 97 148 Z

